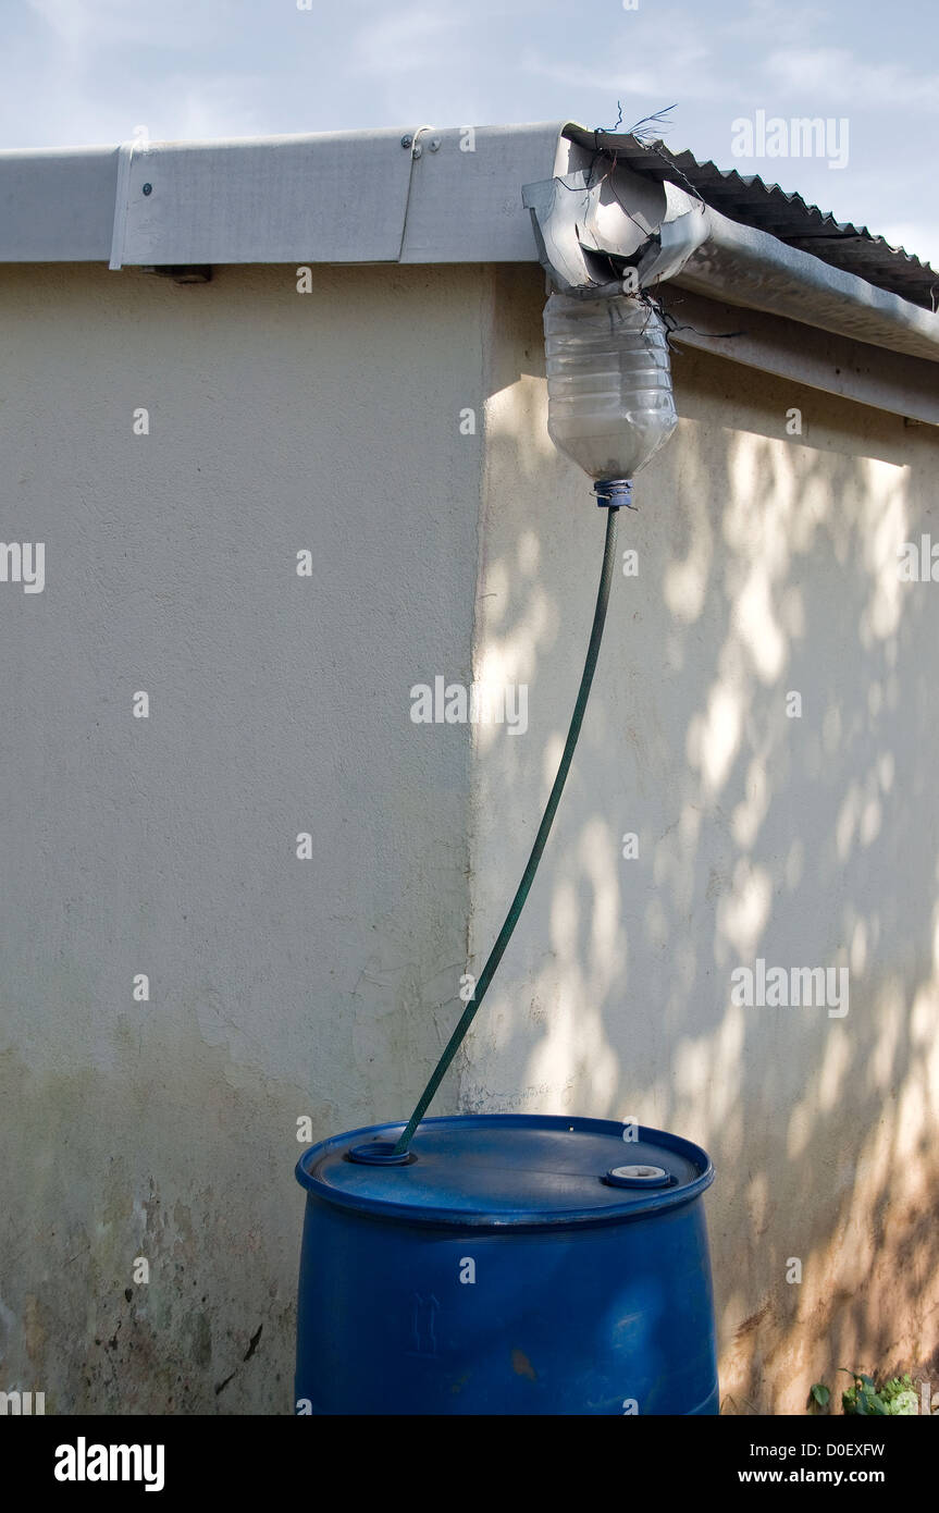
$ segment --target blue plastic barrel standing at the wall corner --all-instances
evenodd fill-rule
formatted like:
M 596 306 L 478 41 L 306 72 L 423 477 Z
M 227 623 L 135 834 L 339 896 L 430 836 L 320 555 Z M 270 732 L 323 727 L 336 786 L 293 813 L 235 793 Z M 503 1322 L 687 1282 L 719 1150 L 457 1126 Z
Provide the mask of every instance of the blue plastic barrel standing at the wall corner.
M 426 1120 L 393 1165 L 402 1127 L 296 1167 L 296 1413 L 718 1412 L 699 1145 L 472 1115 Z

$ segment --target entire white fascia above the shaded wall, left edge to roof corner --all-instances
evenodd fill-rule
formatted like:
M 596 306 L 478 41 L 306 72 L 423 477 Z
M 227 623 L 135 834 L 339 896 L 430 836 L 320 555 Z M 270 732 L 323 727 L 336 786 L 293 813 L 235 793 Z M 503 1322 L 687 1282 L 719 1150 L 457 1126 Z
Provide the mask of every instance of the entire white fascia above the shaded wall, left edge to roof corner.
M 553 172 L 561 129 L 0 153 L 0 262 L 537 262 L 522 183 Z

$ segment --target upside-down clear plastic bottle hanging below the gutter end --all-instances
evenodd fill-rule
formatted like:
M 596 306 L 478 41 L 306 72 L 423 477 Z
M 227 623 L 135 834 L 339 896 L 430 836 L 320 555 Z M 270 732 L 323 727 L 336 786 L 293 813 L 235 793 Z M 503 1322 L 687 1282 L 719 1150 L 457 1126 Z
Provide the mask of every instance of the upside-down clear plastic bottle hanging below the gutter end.
M 591 478 L 632 478 L 677 424 L 661 316 L 631 295 L 552 294 L 544 351 L 555 446 Z

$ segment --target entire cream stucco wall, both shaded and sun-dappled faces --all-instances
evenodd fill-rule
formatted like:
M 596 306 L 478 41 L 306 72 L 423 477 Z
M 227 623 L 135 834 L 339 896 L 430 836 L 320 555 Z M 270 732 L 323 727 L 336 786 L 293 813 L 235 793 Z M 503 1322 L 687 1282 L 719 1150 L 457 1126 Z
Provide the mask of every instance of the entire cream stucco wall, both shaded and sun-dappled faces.
M 603 522 L 544 431 L 538 271 L 313 283 L 0 274 L 0 536 L 47 545 L 44 593 L 0 584 L 0 1387 L 48 1412 L 290 1410 L 296 1121 L 408 1112 L 579 675 Z M 702 1141 L 726 1407 L 800 1412 L 936 1345 L 939 589 L 894 572 L 936 442 L 717 359 L 676 386 L 435 1112 Z M 435 675 L 525 682 L 528 731 L 414 725 Z M 850 965 L 847 1017 L 733 1008 L 758 955 Z

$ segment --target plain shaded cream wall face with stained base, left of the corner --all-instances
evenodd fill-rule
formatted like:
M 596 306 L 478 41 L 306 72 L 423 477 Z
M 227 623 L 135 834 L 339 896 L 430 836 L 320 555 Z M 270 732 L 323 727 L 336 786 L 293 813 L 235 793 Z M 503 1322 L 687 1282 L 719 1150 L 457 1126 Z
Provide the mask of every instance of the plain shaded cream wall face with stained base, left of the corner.
M 482 294 L 0 274 L 0 1387 L 50 1413 L 292 1410 L 296 1120 L 399 1114 L 458 1003 L 469 737 L 408 690 L 470 673 Z

